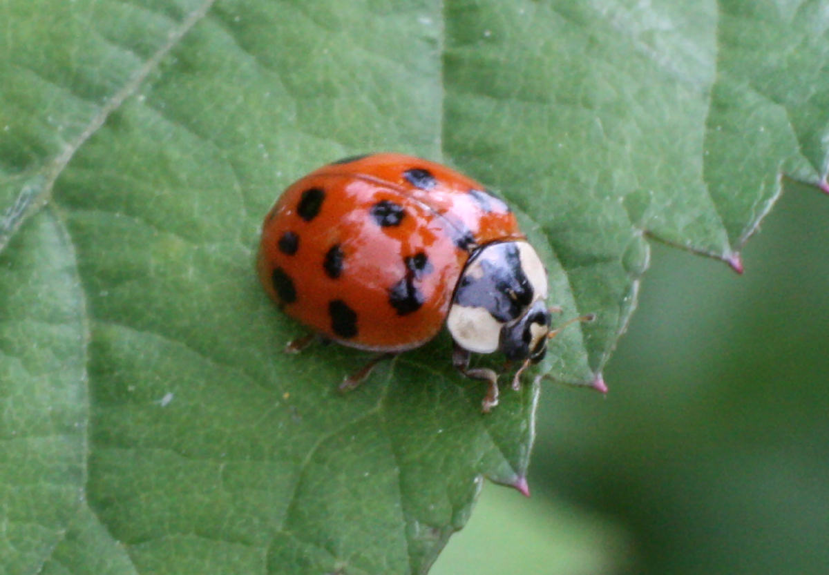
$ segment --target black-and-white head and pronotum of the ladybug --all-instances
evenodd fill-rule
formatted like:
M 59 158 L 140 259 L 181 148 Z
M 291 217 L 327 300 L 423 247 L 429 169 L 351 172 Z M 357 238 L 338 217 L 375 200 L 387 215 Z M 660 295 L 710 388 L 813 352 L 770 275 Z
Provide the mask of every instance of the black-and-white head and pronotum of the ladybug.
M 486 244 L 469 258 L 446 321 L 463 349 L 537 363 L 547 350 L 547 273 L 525 241 Z

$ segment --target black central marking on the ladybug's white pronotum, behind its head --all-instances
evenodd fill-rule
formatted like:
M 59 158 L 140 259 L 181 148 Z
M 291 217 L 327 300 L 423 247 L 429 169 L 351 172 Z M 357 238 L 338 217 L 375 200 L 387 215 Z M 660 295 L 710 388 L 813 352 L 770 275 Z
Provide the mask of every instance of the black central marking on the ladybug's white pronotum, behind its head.
M 521 268 L 516 244 L 505 242 L 487 246 L 480 264 L 480 278 L 464 275 L 455 290 L 454 302 L 463 307 L 483 307 L 492 317 L 506 323 L 521 316 L 532 301 L 530 280 Z

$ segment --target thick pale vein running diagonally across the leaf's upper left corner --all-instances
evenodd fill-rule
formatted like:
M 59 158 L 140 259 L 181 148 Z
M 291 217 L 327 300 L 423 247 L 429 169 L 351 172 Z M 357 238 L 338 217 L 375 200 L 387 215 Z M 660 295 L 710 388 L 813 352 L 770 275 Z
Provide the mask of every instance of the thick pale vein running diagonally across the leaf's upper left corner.
M 61 173 L 72 161 L 81 147 L 104 125 L 107 118 L 118 110 L 122 104 L 143 84 L 143 81 L 158 68 L 161 61 L 182 41 L 187 32 L 191 31 L 201 19 L 206 17 L 216 0 L 205 0 L 200 7 L 191 11 L 182 23 L 167 37 L 167 41 L 150 56 L 144 64 L 135 70 L 135 73 L 107 99 L 90 118 L 90 122 L 80 133 L 63 149 L 63 152 L 52 158 L 33 176 L 27 179 L 22 190 L 17 195 L 14 204 L 2 217 L 0 227 L 0 252 L 5 249 L 9 239 L 32 214 L 36 213 L 49 201 L 51 191 Z

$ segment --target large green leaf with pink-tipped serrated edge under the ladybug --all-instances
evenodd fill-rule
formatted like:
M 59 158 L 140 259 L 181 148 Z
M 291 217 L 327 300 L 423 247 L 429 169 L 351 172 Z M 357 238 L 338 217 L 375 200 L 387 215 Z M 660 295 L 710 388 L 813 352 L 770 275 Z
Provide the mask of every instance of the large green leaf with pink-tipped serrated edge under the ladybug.
M 363 354 L 279 351 L 301 328 L 252 270 L 269 205 L 359 152 L 463 169 L 525 214 L 562 318 L 597 314 L 541 373 L 599 382 L 647 237 L 739 267 L 783 176 L 826 187 L 826 7 L 4 2 L 3 418 L 27 437 L 80 424 L 74 450 L 27 451 L 75 472 L 62 498 L 4 495 L 0 564 L 424 573 L 481 476 L 521 485 L 539 385 L 482 416 L 444 335 L 340 396 Z M 41 341 L 43 318 L 74 339 Z M 29 350 L 63 368 L 31 394 Z

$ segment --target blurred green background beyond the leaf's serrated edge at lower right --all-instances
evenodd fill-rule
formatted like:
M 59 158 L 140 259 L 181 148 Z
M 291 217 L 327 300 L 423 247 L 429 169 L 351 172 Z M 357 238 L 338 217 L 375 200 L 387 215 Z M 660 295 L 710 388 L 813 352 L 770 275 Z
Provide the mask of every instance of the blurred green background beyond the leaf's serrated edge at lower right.
M 484 490 L 432 573 L 825 572 L 826 221 L 794 186 L 743 276 L 656 246 L 607 398 L 543 389 L 531 504 Z

